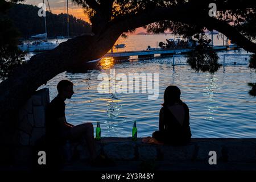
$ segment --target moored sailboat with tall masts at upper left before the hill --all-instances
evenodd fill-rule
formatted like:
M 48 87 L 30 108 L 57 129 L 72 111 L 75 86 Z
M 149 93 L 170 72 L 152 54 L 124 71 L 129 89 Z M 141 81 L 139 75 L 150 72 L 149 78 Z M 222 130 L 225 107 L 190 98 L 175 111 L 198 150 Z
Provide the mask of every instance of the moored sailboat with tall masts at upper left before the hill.
M 43 3 L 44 3 L 44 0 L 43 0 Z M 68 0 L 67 0 L 67 14 L 68 14 Z M 21 51 L 36 52 L 36 51 L 49 51 L 59 46 L 58 42 L 53 43 L 47 40 L 46 16 L 44 16 L 44 26 L 46 28 L 46 32 L 44 34 L 31 36 L 31 38 L 37 39 L 37 40 L 33 42 L 24 42 L 23 44 L 18 46 L 19 49 Z M 68 28 L 68 38 L 69 38 L 69 18 L 67 22 L 67 28 Z

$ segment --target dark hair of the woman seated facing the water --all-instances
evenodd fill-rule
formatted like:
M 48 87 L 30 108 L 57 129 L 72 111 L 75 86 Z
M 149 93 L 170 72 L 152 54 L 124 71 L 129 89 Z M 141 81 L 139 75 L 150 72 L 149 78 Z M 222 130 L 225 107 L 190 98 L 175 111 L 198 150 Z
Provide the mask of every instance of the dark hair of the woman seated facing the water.
M 182 101 L 180 100 L 180 94 L 180 89 L 177 86 L 167 86 L 166 90 L 164 90 L 164 103 L 162 105 L 167 106 L 173 105 L 176 102 L 181 103 Z

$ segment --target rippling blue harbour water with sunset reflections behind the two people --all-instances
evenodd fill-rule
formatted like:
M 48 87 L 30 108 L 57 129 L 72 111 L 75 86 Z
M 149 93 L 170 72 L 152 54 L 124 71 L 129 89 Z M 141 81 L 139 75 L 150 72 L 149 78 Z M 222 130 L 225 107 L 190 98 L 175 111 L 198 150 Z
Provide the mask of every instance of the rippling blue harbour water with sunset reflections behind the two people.
M 167 35 L 168 36 L 168 35 Z M 151 38 L 150 38 L 151 37 Z M 156 47 L 156 40 L 162 41 L 165 35 L 129 36 L 119 39 L 126 44 L 126 51 Z M 139 40 L 139 41 L 138 41 Z M 217 42 L 217 40 L 216 40 Z M 220 40 L 222 43 L 222 40 Z M 154 44 L 153 44 L 154 43 Z M 247 53 L 221 52 L 224 53 Z M 131 137 L 134 119 L 137 120 L 138 137 L 147 137 L 158 129 L 159 110 L 163 102 L 163 92 L 168 85 L 181 89 L 181 100 L 189 107 L 192 137 L 255 138 L 256 137 L 256 98 L 249 96 L 247 82 L 255 82 L 256 73 L 247 68 L 249 56 L 227 56 L 228 63 L 217 73 L 195 73 L 184 65 L 185 57 L 172 57 L 151 60 L 133 60 L 114 64 L 113 59 L 101 60 L 100 68 L 83 74 L 61 73 L 43 85 L 49 88 L 51 100 L 56 96 L 56 85 L 60 80 L 71 80 L 75 94 L 66 100 L 68 122 L 79 125 L 82 122 L 101 122 L 102 137 Z M 220 56 L 220 63 L 223 56 Z M 233 62 L 237 64 L 234 65 Z M 100 73 L 110 74 L 110 69 L 118 73 L 159 73 L 159 97 L 148 100 L 142 93 L 98 93 Z

